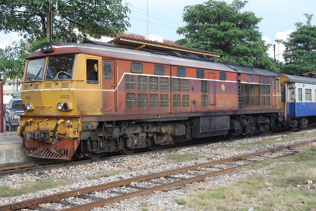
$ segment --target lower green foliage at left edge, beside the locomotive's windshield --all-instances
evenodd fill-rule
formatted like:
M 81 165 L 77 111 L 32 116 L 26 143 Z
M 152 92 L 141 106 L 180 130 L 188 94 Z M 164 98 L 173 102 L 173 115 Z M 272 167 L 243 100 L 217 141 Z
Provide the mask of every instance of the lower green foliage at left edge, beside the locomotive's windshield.
M 41 43 L 48 41 L 48 38 L 20 40 L 19 42 L 13 42 L 4 49 L 0 48 L 0 72 L 2 75 L 6 75 L 0 81 L 5 82 L 7 78 L 22 79 L 26 58 L 39 49 Z

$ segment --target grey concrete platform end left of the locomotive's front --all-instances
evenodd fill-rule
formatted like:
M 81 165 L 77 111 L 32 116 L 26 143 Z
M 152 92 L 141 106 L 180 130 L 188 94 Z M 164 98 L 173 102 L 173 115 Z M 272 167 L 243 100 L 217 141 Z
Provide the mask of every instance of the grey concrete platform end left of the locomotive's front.
M 22 139 L 16 132 L 0 133 L 0 166 L 36 160 L 42 159 L 25 155 Z

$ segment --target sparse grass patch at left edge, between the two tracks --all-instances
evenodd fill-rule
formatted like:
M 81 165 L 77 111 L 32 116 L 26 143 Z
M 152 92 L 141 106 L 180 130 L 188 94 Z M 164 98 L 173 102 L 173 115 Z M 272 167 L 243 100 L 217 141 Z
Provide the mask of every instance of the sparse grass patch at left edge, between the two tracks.
M 57 180 L 52 179 L 40 179 L 37 182 L 24 183 L 23 186 L 19 188 L 11 188 L 8 185 L 0 186 L 0 198 L 10 197 L 10 196 L 21 196 L 27 193 L 33 193 L 40 190 L 57 188 L 64 185 L 73 184 L 76 181 L 72 180 Z

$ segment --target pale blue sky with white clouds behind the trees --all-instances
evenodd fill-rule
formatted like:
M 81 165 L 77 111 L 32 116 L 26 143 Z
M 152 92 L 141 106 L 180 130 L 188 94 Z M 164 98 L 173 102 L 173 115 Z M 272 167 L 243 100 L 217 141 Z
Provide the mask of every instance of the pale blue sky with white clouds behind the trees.
M 53 0 L 54 1 L 54 0 Z M 122 0 L 129 3 L 131 9 L 131 27 L 128 32 L 145 35 L 147 33 L 163 36 L 164 39 L 176 41 L 184 38 L 176 33 L 176 29 L 185 25 L 182 22 L 183 8 L 188 5 L 203 3 L 205 0 L 148 0 L 148 28 L 147 28 L 147 0 Z M 226 0 L 231 3 L 232 0 Z M 266 43 L 276 44 L 275 39 L 286 40 L 287 35 L 295 31 L 296 22 L 306 23 L 304 13 L 315 14 L 312 25 L 316 25 L 316 0 L 248 0 L 243 11 L 252 11 L 263 20 L 258 24 Z M 16 32 L 4 34 L 0 32 L 0 48 L 5 47 L 21 37 Z M 276 54 L 282 53 L 285 47 L 276 44 Z M 273 57 L 272 48 L 269 49 Z M 276 57 L 278 58 L 278 56 Z M 280 61 L 283 58 L 280 57 Z

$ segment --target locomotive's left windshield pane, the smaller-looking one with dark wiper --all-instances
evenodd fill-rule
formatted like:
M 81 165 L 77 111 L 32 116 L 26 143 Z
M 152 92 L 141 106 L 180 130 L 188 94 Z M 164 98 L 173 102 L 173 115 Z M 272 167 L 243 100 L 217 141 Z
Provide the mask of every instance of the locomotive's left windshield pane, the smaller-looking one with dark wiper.
M 27 63 L 25 81 L 42 80 L 45 58 L 30 60 Z

